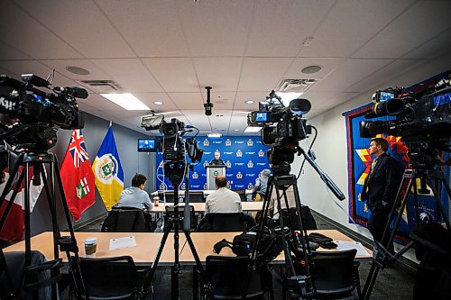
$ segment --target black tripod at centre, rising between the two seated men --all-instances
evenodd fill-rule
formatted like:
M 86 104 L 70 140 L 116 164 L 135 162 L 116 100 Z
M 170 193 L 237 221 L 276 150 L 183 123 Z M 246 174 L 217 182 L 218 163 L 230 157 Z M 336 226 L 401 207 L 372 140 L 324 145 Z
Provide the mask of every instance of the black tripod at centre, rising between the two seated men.
M 156 269 L 158 267 L 158 262 L 160 261 L 162 250 L 164 249 L 164 245 L 168 240 L 168 236 L 170 234 L 170 230 L 174 230 L 174 265 L 171 267 L 171 281 L 170 281 L 170 298 L 172 300 L 179 299 L 179 273 L 181 270 L 181 266 L 179 263 L 179 229 L 180 227 L 183 229 L 185 233 L 185 238 L 189 243 L 189 249 L 193 254 L 194 259 L 196 260 L 196 266 L 198 268 L 198 272 L 200 277 L 202 278 L 202 282 L 207 284 L 207 280 L 205 277 L 205 270 L 202 267 L 202 263 L 198 257 L 198 252 L 194 246 L 193 241 L 191 240 L 191 236 L 189 235 L 189 223 L 187 221 L 187 215 L 189 215 L 189 182 L 187 179 L 187 201 L 185 203 L 185 217 L 180 217 L 179 215 L 179 184 L 183 179 L 183 174 L 186 174 L 188 177 L 189 166 L 185 161 L 183 162 L 172 162 L 166 161 L 164 163 L 164 173 L 170 174 L 168 177 L 170 178 L 170 183 L 174 186 L 174 213 L 168 215 L 164 224 L 164 233 L 161 238 L 160 247 L 158 248 L 155 259 L 152 262 L 151 274 L 150 274 L 150 282 L 152 282 L 153 276 L 155 275 Z M 187 213 L 188 212 L 188 213 Z M 183 222 L 185 220 L 185 223 Z M 188 219 L 189 220 L 189 219 Z

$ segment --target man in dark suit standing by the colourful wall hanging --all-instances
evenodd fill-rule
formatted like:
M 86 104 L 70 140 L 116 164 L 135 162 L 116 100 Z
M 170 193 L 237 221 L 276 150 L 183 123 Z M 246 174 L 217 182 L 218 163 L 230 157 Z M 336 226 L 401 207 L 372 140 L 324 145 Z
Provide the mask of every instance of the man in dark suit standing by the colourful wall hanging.
M 374 241 L 382 243 L 383 246 L 390 238 L 390 232 L 387 232 L 382 241 L 383 231 L 389 222 L 391 207 L 402 180 L 400 163 L 385 153 L 388 147 L 389 143 L 385 139 L 375 138 L 371 141 L 369 150 L 374 159 L 361 195 L 361 199 L 366 201 L 371 211 L 368 230 L 373 235 Z M 394 252 L 392 243 L 388 246 L 388 250 Z

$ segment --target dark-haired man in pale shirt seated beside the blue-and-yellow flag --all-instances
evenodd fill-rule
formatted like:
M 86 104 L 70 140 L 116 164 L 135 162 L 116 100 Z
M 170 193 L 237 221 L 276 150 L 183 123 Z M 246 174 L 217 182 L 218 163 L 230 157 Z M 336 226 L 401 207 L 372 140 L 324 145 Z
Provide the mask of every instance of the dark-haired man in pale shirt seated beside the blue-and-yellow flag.
M 134 207 L 138 209 L 151 210 L 153 205 L 149 194 L 144 191 L 147 177 L 136 173 L 132 178 L 132 186 L 122 191 L 117 207 Z

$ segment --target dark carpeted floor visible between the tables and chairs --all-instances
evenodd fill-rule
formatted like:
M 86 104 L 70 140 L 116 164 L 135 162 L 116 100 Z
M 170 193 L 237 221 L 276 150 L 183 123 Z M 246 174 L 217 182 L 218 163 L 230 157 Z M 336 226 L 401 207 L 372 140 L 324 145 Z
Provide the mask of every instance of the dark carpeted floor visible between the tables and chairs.
M 89 223 L 78 231 L 100 232 L 105 218 Z M 323 219 L 315 218 L 318 229 L 337 229 Z M 370 262 L 363 261 L 359 267 L 360 282 L 364 286 L 366 277 L 370 271 Z M 375 281 L 371 299 L 411 299 L 416 270 L 397 261 L 391 268 L 382 269 Z M 170 267 L 159 267 L 153 283 L 153 297 L 148 299 L 170 299 Z M 282 299 L 281 284 L 274 277 L 273 288 L 276 299 Z M 179 298 L 192 299 L 192 268 L 183 267 L 179 274 Z M 352 298 L 351 298 L 352 299 Z

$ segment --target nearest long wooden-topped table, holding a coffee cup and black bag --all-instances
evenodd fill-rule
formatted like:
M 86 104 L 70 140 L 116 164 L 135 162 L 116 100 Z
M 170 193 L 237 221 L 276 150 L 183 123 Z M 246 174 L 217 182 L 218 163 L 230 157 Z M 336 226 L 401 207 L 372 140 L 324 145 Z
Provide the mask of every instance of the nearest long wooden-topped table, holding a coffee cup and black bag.
M 334 241 L 338 242 L 353 242 L 351 238 L 345 234 L 338 232 L 336 230 L 317 230 L 308 231 L 319 232 L 324 234 Z M 208 255 L 216 255 L 213 252 L 213 245 L 217 241 L 226 239 L 227 241 L 233 241 L 235 235 L 241 232 L 191 232 L 191 239 L 198 252 L 199 259 L 205 262 Z M 61 232 L 62 235 L 69 235 L 69 232 Z M 80 257 L 86 257 L 84 241 L 87 238 L 97 238 L 97 252 L 95 254 L 96 258 L 110 258 L 116 256 L 129 255 L 133 258 L 136 265 L 150 266 L 157 253 L 157 250 L 161 243 L 161 238 L 163 236 L 162 232 L 75 232 L 75 237 L 78 244 L 78 255 Z M 119 238 L 130 238 L 134 237 L 136 243 L 135 246 L 129 248 L 110 250 L 110 242 L 112 239 Z M 161 258 L 159 264 L 161 265 L 172 265 L 174 261 L 174 247 L 173 247 L 174 235 L 170 233 L 168 240 L 164 246 L 161 253 Z M 52 232 L 42 232 L 32 237 L 31 240 L 32 250 L 39 250 L 47 259 L 54 259 L 53 255 L 53 242 L 52 242 Z M 195 265 L 196 261 L 193 258 L 191 250 L 189 249 L 188 243 L 186 243 L 186 237 L 184 234 L 179 235 L 179 261 L 182 265 Z M 23 251 L 25 250 L 25 242 L 20 241 L 6 247 L 4 252 L 12 251 Z M 371 250 L 365 249 L 365 253 L 357 253 L 355 259 L 372 259 L 373 253 Z M 336 251 L 321 249 L 318 251 Z M 228 247 L 221 251 L 220 255 L 224 256 L 235 256 L 232 250 Z M 60 258 L 67 260 L 66 254 L 61 252 Z M 281 264 L 285 261 L 283 252 L 272 261 L 275 264 Z

